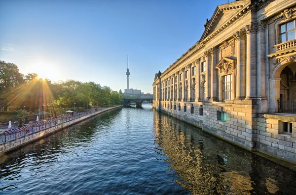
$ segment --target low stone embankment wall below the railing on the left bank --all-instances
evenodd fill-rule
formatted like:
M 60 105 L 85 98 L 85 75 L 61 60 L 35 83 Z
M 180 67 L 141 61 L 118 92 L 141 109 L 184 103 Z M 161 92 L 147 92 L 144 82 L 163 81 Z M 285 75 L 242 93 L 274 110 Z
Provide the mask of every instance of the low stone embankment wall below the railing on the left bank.
M 37 133 L 30 134 L 30 135 L 27 135 L 27 136 L 22 137 L 22 138 L 18 138 L 18 139 L 12 140 L 12 141 L 5 142 L 4 144 L 0 145 L 0 154 L 1 153 L 6 153 L 8 151 L 11 151 L 13 149 L 16 149 L 16 148 L 24 145 L 24 144 L 27 144 L 27 143 L 35 141 L 37 139 L 43 138 L 44 136 L 49 135 L 49 134 L 51 134 L 51 133 L 53 133 L 55 131 L 58 131 L 58 130 L 61 130 L 63 128 L 74 125 L 74 124 L 76 124 L 78 122 L 81 122 L 81 121 L 83 121 L 83 120 L 85 120 L 87 118 L 90 118 L 90 117 L 95 116 L 97 114 L 100 114 L 102 112 L 110 111 L 112 109 L 116 109 L 116 108 L 120 108 L 120 107 L 123 107 L 123 105 L 114 106 L 114 107 L 107 108 L 107 109 L 104 109 L 104 110 L 101 110 L 101 111 L 90 113 L 88 115 L 73 119 L 71 121 L 64 122 L 64 123 L 58 124 L 56 126 L 44 129 L 44 130 L 39 131 Z

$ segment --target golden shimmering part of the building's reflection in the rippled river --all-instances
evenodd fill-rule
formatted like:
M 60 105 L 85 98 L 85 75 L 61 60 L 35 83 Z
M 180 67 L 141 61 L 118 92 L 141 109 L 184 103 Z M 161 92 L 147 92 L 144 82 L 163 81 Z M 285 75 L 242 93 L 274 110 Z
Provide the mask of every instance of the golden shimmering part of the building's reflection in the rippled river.
M 212 141 L 204 143 L 203 137 L 197 139 L 191 128 L 183 123 L 160 117 L 154 113 L 155 142 L 168 158 L 166 161 L 171 163 L 170 168 L 181 178 L 176 180 L 178 184 L 193 195 L 242 194 L 252 191 L 252 181 L 247 172 L 226 170 L 228 167 L 219 165 L 218 160 L 212 161 L 211 154 L 215 153 L 211 151 Z M 235 164 L 235 160 L 230 158 L 230 164 Z M 249 168 L 246 165 L 239 166 L 243 170 Z

